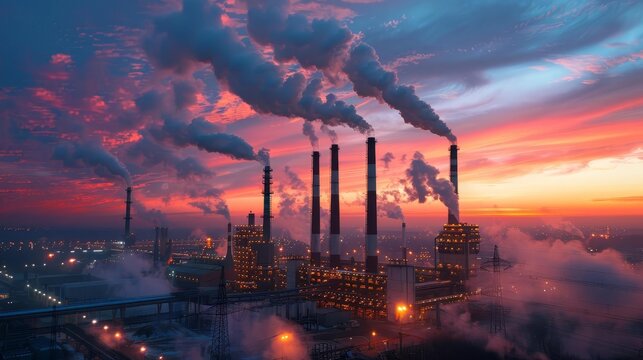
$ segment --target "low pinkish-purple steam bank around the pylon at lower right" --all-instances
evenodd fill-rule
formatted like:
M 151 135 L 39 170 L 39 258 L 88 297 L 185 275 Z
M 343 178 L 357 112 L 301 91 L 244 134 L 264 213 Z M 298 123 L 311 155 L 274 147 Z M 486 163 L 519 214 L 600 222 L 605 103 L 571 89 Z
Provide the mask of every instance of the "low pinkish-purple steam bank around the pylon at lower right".
M 636 306 L 643 301 L 641 269 L 613 249 L 590 253 L 578 240 L 535 240 L 500 225 L 482 230 L 484 239 L 497 244 L 500 256 L 513 264 L 501 275 L 510 346 L 496 351 L 514 348 L 548 358 L 635 357 L 643 335 L 643 309 Z M 492 301 L 485 295 L 492 277 L 479 272 L 474 280 L 483 289 L 484 303 Z M 458 327 L 479 329 L 468 320 Z

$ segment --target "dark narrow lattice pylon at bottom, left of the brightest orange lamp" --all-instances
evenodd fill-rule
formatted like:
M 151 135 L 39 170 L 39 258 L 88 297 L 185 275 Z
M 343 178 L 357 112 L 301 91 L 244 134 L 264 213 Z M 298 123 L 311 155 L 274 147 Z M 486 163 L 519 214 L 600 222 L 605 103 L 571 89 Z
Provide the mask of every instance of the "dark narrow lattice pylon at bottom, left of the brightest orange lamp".
M 224 268 L 221 267 L 219 291 L 212 319 L 212 344 L 210 360 L 230 360 L 230 337 L 228 336 L 228 296 Z

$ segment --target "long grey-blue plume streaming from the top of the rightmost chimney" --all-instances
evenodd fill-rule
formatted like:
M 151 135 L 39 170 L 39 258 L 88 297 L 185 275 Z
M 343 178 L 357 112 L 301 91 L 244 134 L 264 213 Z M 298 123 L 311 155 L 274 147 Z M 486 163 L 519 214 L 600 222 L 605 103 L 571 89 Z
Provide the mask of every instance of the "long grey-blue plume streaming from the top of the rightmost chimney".
M 297 60 L 305 68 L 332 74 L 341 69 L 362 97 L 373 97 L 400 112 L 404 122 L 456 142 L 449 127 L 412 86 L 398 84 L 397 74 L 386 70 L 366 43 L 335 20 L 309 21 L 300 14 L 288 15 L 286 2 L 259 1 L 248 4 L 248 33 L 262 45 L 274 49 L 275 60 Z M 341 64 L 341 65 L 340 65 Z

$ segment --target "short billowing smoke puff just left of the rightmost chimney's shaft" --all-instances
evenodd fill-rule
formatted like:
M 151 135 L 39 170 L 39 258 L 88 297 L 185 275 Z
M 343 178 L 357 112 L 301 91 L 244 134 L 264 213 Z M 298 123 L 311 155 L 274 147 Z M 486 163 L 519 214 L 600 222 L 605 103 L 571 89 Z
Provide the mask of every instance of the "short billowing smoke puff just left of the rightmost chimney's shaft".
M 440 171 L 427 164 L 424 161 L 424 155 L 416 151 L 410 167 L 406 169 L 407 186 L 404 191 L 411 201 L 418 200 L 424 203 L 428 197 L 440 200 L 456 217 L 459 217 L 458 194 L 455 193 L 451 181 L 437 178 L 439 174 Z

